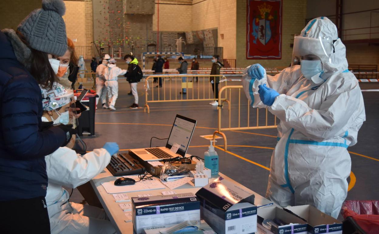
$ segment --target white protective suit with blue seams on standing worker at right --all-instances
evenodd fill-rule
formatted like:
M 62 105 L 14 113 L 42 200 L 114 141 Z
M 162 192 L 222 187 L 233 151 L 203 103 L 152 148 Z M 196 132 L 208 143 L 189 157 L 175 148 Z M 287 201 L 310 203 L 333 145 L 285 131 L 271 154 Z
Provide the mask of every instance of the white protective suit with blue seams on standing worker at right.
M 248 67 L 243 72 L 243 86 L 253 107 L 268 108 L 280 119 L 267 198 L 282 207 L 310 204 L 337 218 L 351 171 L 347 148 L 357 143 L 365 107 L 358 81 L 347 70 L 346 49 L 335 25 L 326 17 L 313 19 L 301 36 L 332 38 L 328 58 L 313 51 L 313 46 L 297 44 L 295 37 L 294 50 L 298 48 L 304 55 L 314 52 L 321 59 L 323 72 L 319 77 L 306 79 L 296 65 L 275 76 L 265 72 L 258 80 L 249 77 Z M 258 94 L 258 85 L 263 84 L 280 94 L 270 107 Z

